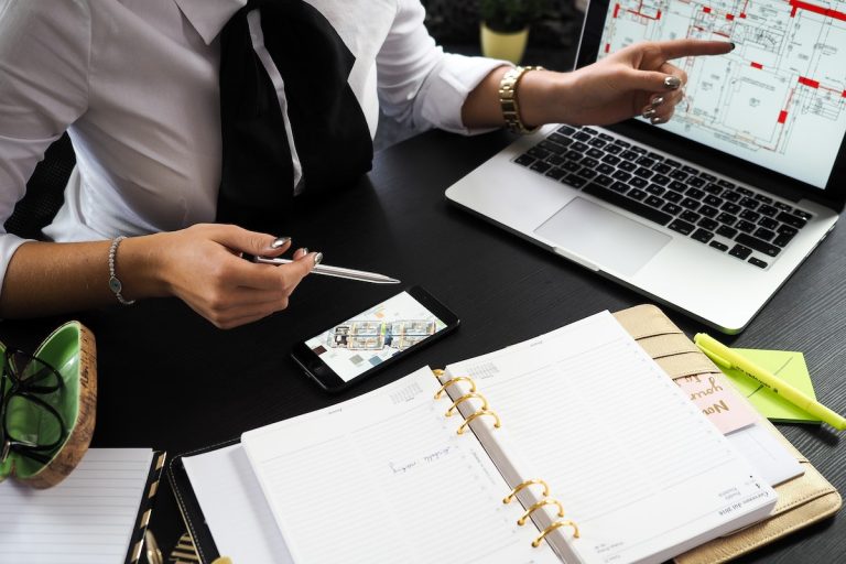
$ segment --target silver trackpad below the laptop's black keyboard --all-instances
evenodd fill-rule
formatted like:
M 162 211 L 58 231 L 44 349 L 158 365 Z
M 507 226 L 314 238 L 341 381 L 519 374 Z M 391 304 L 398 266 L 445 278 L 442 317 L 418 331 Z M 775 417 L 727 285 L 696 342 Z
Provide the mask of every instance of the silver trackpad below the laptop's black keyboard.
M 579 197 L 534 232 L 600 270 L 629 276 L 672 240 L 666 234 Z

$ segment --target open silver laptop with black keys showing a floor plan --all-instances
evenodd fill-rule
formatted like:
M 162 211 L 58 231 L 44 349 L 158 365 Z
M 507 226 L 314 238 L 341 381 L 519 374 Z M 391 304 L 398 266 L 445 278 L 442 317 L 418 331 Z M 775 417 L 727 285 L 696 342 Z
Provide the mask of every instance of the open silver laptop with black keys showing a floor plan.
M 781 0 L 592 0 L 576 65 L 644 40 L 679 59 L 665 124 L 545 126 L 446 191 L 454 204 L 716 329 L 741 332 L 846 199 L 844 14 Z

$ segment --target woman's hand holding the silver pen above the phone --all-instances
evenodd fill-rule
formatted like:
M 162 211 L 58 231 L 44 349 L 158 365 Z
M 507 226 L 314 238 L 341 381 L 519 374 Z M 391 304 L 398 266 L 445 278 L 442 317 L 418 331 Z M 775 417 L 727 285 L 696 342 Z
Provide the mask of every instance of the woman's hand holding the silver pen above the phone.
M 126 239 L 120 252 L 132 253 L 133 261 L 145 259 L 141 270 L 153 273 L 156 288 L 139 288 L 140 293 L 175 295 L 220 328 L 286 308 L 294 289 L 322 259 L 318 252 L 300 249 L 290 264 L 247 261 L 241 253 L 276 257 L 290 248 L 291 240 L 234 225 L 200 224 L 139 239 L 148 240 Z M 124 293 L 131 299 L 133 285 L 128 282 Z

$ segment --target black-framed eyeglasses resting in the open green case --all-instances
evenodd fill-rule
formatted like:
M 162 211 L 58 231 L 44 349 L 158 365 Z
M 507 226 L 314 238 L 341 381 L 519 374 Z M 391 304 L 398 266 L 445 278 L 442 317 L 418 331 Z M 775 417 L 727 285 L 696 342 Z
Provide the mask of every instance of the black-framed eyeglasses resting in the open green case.
M 47 464 L 67 436 L 53 403 L 62 375 L 44 360 L 17 349 L 3 352 L 0 371 L 0 464 L 15 453 Z

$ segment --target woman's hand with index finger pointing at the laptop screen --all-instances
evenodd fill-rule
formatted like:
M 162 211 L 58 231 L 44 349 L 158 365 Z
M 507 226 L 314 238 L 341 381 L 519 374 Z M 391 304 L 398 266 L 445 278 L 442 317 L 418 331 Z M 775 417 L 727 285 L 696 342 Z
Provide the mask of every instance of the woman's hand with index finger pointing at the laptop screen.
M 664 123 L 684 98 L 684 70 L 669 61 L 723 55 L 722 41 L 675 40 L 630 45 L 572 73 L 528 73 L 520 84 L 521 115 L 528 124 L 607 124 L 643 116 Z M 534 75 L 534 76 L 533 76 Z M 549 80 L 546 85 L 543 79 Z

